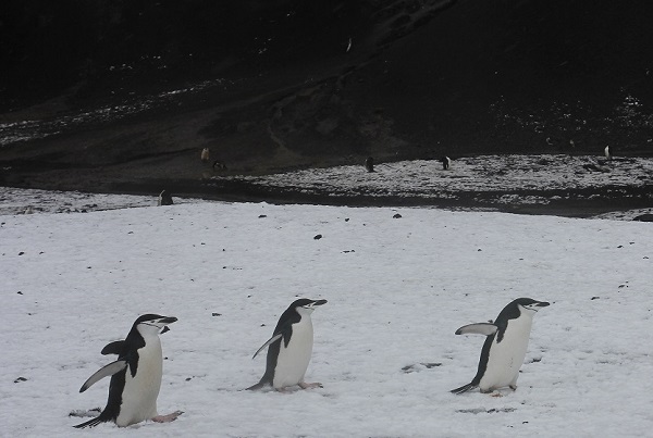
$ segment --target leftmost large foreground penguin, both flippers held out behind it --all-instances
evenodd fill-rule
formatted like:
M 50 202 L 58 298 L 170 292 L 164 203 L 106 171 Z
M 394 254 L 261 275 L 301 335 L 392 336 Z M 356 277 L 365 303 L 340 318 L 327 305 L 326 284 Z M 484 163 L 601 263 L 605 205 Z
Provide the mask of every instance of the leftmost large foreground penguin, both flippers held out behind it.
M 143 315 L 134 322 L 125 340 L 111 342 L 102 349 L 102 354 L 118 354 L 118 360 L 90 376 L 79 392 L 111 376 L 107 406 L 99 416 L 75 427 L 94 427 L 104 422 L 126 427 L 146 420 L 168 423 L 182 414 L 178 411 L 168 415 L 157 413 L 163 371 L 159 331 L 175 321 L 174 316 Z

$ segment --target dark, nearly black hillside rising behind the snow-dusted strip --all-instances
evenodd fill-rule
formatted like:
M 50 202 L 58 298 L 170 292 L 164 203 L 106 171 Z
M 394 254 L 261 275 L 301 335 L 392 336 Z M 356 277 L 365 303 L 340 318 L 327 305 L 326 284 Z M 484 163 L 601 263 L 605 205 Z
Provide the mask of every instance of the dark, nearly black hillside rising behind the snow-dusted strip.
M 646 1 L 7 0 L 0 13 L 5 185 L 607 145 L 653 155 Z

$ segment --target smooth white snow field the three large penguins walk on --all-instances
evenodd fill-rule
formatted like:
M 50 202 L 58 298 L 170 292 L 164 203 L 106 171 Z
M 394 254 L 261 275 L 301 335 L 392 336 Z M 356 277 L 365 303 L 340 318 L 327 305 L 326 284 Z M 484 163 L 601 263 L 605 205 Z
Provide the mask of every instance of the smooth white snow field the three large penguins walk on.
M 650 223 L 111 199 L 141 208 L 0 216 L 0 436 L 653 429 Z M 79 202 L 69 207 L 96 201 Z M 307 373 L 324 388 L 242 391 L 263 373 L 264 355 L 251 354 L 296 297 L 329 300 L 313 313 Z M 454 331 L 518 297 L 552 305 L 534 317 L 517 391 L 451 395 L 476 374 L 483 342 Z M 72 428 L 87 418 L 71 412 L 104 406 L 109 379 L 78 393 L 110 362 L 100 350 L 144 313 L 178 317 L 161 337 L 159 412 L 185 413 L 130 430 Z

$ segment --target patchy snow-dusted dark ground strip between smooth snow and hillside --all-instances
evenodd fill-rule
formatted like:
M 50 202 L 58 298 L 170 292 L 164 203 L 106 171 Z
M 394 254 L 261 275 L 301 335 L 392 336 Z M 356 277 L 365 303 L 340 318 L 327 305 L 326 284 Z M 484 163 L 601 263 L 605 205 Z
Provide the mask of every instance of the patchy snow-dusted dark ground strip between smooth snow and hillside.
M 198 166 L 199 167 L 199 166 Z M 199 170 L 198 170 L 199 172 Z M 196 180 L 116 184 L 116 192 L 0 188 L 0 214 L 85 213 L 149 207 L 171 191 L 175 203 L 247 201 L 352 207 L 430 207 L 575 217 L 653 220 L 653 159 L 612 161 L 571 155 L 477 155 L 305 168 L 266 175 L 224 175 L 204 165 Z M 143 195 L 146 193 L 146 195 Z

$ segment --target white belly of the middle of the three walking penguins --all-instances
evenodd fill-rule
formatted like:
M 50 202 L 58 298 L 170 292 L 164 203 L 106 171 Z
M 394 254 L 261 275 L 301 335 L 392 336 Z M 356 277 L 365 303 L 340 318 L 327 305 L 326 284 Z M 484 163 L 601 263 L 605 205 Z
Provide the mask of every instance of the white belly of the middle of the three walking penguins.
M 299 323 L 293 325 L 293 334 L 288 346 L 285 347 L 283 339 L 281 340 L 274 378 L 272 379 L 274 388 L 280 389 L 304 381 L 312 354 L 312 322 L 308 317 L 303 317 Z

